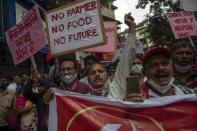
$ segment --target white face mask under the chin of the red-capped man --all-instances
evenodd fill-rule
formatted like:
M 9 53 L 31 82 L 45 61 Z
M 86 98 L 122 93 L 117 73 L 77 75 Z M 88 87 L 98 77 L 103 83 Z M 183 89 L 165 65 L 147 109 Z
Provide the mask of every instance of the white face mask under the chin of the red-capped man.
M 174 77 L 171 77 L 170 82 L 168 83 L 168 85 L 166 86 L 160 86 L 157 83 L 155 83 L 153 80 L 148 79 L 147 82 L 148 84 L 155 89 L 156 91 L 160 92 L 161 94 L 166 93 L 172 86 L 172 84 L 174 83 L 175 79 Z

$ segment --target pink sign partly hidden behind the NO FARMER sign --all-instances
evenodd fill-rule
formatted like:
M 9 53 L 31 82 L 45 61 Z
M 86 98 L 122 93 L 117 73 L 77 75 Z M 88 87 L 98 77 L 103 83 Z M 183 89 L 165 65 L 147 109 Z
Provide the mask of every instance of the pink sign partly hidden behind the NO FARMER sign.
M 107 40 L 106 45 L 86 49 L 85 51 L 90 52 L 112 52 L 116 51 L 117 42 L 117 23 L 116 22 L 104 22 L 105 36 Z

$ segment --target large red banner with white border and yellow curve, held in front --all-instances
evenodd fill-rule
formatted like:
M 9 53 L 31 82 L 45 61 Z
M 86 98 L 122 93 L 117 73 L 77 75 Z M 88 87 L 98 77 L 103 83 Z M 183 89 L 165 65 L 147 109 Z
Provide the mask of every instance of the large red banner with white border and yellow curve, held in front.
M 195 131 L 197 96 L 123 102 L 55 89 L 49 131 Z

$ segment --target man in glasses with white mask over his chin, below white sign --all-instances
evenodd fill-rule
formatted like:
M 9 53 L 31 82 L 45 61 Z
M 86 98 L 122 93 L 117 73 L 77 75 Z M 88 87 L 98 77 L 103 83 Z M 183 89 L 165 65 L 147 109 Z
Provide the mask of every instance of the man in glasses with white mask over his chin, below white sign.
M 87 94 L 90 90 L 87 84 L 80 83 L 77 79 L 77 62 L 71 58 L 64 58 L 59 62 L 59 75 L 61 78 L 58 89 Z M 48 103 L 53 96 L 53 89 L 50 88 L 44 95 L 43 100 Z

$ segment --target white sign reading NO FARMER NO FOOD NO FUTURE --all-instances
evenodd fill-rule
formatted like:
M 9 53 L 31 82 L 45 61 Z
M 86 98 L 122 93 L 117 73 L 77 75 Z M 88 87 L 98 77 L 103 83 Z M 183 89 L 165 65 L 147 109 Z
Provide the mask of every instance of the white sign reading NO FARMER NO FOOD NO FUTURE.
M 52 56 L 106 43 L 99 0 L 80 0 L 45 13 Z

